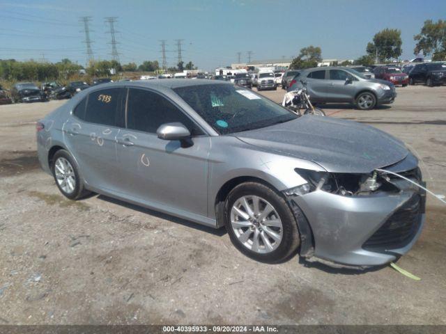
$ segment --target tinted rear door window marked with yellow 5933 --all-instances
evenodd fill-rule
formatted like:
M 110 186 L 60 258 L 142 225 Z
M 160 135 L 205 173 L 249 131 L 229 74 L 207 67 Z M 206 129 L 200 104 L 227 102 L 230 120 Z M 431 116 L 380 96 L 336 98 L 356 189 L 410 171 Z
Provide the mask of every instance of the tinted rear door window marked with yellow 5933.
M 86 122 L 123 127 L 122 92 L 122 88 L 108 88 L 91 93 L 86 105 Z

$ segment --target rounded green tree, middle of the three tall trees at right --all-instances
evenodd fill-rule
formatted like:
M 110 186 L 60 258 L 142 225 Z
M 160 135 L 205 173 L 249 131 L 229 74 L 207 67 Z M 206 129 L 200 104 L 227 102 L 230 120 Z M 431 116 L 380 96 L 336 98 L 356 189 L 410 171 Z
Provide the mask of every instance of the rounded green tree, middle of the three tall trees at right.
M 390 61 L 401 56 L 401 31 L 399 29 L 384 29 L 374 35 L 373 42 L 366 47 L 367 54 L 378 56 L 379 61 Z

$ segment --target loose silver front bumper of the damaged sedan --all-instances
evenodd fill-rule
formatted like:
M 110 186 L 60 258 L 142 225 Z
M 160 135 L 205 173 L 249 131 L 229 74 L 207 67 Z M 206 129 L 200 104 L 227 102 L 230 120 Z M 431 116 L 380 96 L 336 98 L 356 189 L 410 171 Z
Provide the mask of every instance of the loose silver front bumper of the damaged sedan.
M 422 201 L 415 208 L 419 212 L 412 217 L 410 230 L 404 230 L 404 239 L 397 238 L 392 228 L 404 228 L 406 221 L 399 226 L 395 216 L 412 204 L 414 196 Z M 314 191 L 289 200 L 307 218 L 314 240 L 312 255 L 349 266 L 376 266 L 396 260 L 420 237 L 425 219 L 425 196 L 415 190 L 352 197 Z M 387 239 L 379 239 L 383 235 Z

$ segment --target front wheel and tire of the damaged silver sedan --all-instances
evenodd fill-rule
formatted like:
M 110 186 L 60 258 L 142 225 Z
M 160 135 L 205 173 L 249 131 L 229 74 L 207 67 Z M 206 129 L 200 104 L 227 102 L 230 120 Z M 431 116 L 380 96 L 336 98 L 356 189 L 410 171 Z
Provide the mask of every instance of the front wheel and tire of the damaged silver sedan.
M 277 191 L 258 182 L 239 184 L 224 205 L 224 222 L 241 253 L 261 262 L 281 262 L 297 250 L 298 225 Z

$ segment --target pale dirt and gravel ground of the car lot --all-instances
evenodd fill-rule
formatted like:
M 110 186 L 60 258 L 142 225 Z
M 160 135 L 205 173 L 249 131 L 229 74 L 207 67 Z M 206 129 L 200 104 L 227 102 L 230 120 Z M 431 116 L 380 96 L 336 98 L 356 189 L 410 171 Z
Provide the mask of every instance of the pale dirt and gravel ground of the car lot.
M 446 87 L 398 94 L 374 111 L 323 109 L 401 138 L 429 188 L 446 193 Z M 63 198 L 38 166 L 33 124 L 61 104 L 0 106 L 0 324 L 446 324 L 446 207 L 433 198 L 398 262 L 421 281 L 298 257 L 261 264 L 224 230 L 105 196 Z

